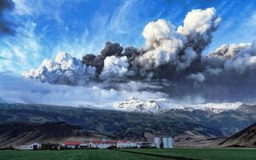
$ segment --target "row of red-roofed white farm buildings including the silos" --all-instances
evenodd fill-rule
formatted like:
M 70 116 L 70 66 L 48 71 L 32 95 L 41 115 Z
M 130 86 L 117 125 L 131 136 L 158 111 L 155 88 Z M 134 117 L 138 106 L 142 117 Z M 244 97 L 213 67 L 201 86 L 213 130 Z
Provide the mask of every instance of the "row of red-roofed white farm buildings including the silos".
M 136 140 L 88 140 L 84 142 L 64 141 L 58 148 L 65 149 L 104 149 L 104 148 L 172 148 L 171 137 L 154 137 L 154 142 Z M 42 145 L 32 143 L 21 146 L 21 150 L 38 150 Z

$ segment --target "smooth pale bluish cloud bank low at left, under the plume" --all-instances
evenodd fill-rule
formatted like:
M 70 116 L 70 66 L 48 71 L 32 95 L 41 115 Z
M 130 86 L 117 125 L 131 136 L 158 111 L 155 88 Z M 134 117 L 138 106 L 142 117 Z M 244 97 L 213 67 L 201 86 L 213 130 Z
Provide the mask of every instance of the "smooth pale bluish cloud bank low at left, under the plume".
M 140 86 L 140 83 L 134 85 Z M 102 89 L 101 83 L 91 83 L 86 87 L 40 83 L 33 79 L 0 72 L 0 97 L 2 101 L 8 103 L 93 106 L 111 109 L 113 102 L 125 100 L 128 96 L 157 99 L 165 97 L 165 94 L 127 89 Z

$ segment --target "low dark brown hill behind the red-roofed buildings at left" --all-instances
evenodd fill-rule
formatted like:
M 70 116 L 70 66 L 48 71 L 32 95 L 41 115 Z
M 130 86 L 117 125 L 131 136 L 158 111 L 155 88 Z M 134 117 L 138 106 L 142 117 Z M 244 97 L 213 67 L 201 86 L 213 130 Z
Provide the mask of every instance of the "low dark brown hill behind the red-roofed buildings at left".
M 104 135 L 85 131 L 68 123 L 4 123 L 0 124 L 0 146 L 20 146 L 29 142 L 102 139 Z

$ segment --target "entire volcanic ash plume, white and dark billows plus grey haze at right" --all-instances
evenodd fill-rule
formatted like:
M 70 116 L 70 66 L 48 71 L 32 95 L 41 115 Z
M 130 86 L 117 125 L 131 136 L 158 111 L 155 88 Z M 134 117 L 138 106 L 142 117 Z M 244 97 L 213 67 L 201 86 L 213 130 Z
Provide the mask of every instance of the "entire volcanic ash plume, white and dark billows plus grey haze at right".
M 167 20 L 143 29 L 143 49 L 105 43 L 104 49 L 80 61 L 69 54 L 44 60 L 24 77 L 67 85 L 187 96 L 204 100 L 247 100 L 255 97 L 256 41 L 223 45 L 201 54 L 220 24 L 215 9 L 194 9 L 177 28 Z M 151 86 L 151 87 L 150 87 Z M 247 95 L 247 96 L 245 96 Z

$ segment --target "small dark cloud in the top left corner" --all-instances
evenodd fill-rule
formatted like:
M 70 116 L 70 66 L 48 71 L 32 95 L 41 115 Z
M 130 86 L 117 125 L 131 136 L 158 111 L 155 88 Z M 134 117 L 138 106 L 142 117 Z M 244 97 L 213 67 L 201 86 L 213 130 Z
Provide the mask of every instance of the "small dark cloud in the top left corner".
M 0 1 L 0 34 L 13 35 L 15 34 L 15 24 L 10 20 L 6 20 L 5 13 L 15 8 L 15 3 L 12 0 Z

